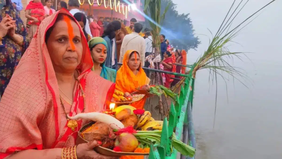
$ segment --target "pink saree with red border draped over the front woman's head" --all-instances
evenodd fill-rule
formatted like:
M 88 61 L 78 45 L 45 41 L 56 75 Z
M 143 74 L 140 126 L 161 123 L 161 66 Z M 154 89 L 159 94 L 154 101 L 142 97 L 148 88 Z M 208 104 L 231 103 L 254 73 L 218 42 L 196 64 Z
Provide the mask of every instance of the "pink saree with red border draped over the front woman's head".
M 3 94 L 0 102 L 0 159 L 26 149 L 73 146 L 78 137 L 76 131 L 89 122 L 78 120 L 78 127 L 72 131 L 67 127 L 60 104 L 59 87 L 45 44 L 45 33 L 54 25 L 59 13 L 72 16 L 61 9 L 41 22 Z M 80 32 L 83 54 L 77 69 L 86 99 L 84 112 L 102 111 L 113 96 L 115 84 L 91 71 L 93 63 L 87 40 L 81 28 Z M 70 116 L 83 110 L 78 83 L 73 93 L 73 104 L 65 104 Z

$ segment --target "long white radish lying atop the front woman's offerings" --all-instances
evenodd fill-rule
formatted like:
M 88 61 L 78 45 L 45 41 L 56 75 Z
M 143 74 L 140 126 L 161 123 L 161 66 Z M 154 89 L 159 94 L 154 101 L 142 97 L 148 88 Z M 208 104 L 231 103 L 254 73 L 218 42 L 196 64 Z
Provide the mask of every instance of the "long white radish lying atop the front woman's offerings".
M 124 124 L 120 122 L 118 119 L 112 117 L 111 115 L 105 114 L 105 113 L 98 113 L 98 112 L 92 112 L 92 113 L 80 113 L 75 115 L 74 117 L 70 117 L 68 115 L 69 119 L 76 120 L 76 119 L 85 119 L 85 120 L 92 120 L 100 123 L 109 124 L 109 126 L 112 129 L 121 129 L 124 128 Z

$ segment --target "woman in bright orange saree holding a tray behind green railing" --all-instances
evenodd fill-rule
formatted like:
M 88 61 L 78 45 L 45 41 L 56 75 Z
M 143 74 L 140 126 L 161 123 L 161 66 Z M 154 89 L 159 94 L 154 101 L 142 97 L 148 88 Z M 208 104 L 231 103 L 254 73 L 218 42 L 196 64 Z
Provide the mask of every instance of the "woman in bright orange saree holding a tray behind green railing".
M 141 67 L 140 55 L 137 51 L 127 50 L 124 57 L 122 66 L 116 72 L 116 89 L 133 93 L 136 91 L 136 88 L 148 85 L 150 79 L 146 76 L 146 73 Z M 137 109 L 143 109 L 145 102 L 146 96 L 130 105 Z

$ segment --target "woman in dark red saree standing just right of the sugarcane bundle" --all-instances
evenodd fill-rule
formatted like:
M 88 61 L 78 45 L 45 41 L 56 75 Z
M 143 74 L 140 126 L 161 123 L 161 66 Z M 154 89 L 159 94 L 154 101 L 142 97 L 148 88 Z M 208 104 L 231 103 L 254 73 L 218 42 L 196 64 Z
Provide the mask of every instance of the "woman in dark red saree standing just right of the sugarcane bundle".
M 170 53 L 169 51 L 164 52 L 164 60 L 162 61 L 162 65 L 164 66 L 164 71 L 175 72 L 176 66 L 172 65 L 175 63 L 175 55 L 174 53 Z M 173 82 L 174 75 L 164 74 L 166 80 L 164 81 L 164 86 L 170 88 L 171 82 Z

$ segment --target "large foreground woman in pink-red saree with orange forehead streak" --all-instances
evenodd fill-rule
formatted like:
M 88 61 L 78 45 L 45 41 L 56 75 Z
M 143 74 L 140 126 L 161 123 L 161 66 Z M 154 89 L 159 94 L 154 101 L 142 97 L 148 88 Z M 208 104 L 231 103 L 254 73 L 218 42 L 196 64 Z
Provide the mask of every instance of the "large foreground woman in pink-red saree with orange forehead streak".
M 67 115 L 102 111 L 113 96 L 115 84 L 92 66 L 83 31 L 67 10 L 43 20 L 1 98 L 0 159 L 57 159 L 66 149 L 78 159 L 116 158 L 93 151 L 100 141 L 77 145 L 77 131 L 89 121 L 68 127 Z

